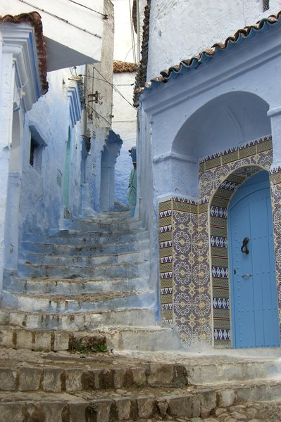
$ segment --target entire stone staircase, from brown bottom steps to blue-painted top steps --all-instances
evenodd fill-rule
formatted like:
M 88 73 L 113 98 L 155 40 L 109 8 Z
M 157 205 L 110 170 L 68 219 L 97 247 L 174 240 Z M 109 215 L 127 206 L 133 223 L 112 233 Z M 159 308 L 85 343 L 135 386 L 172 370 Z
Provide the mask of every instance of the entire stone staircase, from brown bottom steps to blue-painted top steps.
M 155 324 L 149 265 L 126 212 L 25 238 L 4 277 L 0 421 L 196 421 L 280 399 L 280 350 L 192 353 Z

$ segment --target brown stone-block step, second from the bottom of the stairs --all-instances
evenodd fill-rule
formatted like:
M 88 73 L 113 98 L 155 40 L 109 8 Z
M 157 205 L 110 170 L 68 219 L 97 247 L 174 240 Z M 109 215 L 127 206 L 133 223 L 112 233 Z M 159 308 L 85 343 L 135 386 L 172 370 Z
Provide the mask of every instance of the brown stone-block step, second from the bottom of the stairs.
M 83 356 L 91 357 L 83 353 Z M 187 371 L 185 366 L 176 364 L 155 365 L 137 364 L 129 366 L 110 366 L 106 357 L 99 357 L 100 362 L 87 359 L 79 362 L 77 359 L 56 362 L 56 359 L 46 359 L 46 362 L 36 364 L 28 362 L 0 362 L 0 391 L 44 391 L 44 392 L 79 392 L 116 390 L 118 388 L 185 388 L 187 386 Z M 104 360 L 104 362 L 103 362 Z M 103 362 L 103 363 L 102 363 Z

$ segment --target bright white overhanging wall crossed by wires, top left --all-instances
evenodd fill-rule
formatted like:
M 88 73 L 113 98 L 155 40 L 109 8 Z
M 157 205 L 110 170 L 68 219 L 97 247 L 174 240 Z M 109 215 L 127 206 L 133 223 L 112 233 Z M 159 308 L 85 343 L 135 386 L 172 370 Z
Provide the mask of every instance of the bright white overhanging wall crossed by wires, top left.
M 82 65 L 101 59 L 104 0 L 18 1 L 9 0 L 0 4 L 0 15 L 18 15 L 37 11 L 42 16 L 47 48 L 48 70 L 57 70 L 70 65 Z M 30 6 L 32 4 L 32 6 Z M 83 7 L 83 6 L 87 6 Z M 96 13 L 90 9 L 94 9 Z M 71 39 L 71 48 L 69 47 Z

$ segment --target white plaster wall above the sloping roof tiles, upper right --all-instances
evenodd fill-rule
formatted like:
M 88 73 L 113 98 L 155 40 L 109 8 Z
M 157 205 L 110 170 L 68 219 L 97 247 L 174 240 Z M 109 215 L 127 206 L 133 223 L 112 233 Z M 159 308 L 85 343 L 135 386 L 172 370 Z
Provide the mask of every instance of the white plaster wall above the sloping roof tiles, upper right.
M 216 4 L 204 0 L 151 1 L 147 80 L 280 11 L 280 1 L 270 0 L 269 4 L 263 12 L 262 0 L 217 0 Z

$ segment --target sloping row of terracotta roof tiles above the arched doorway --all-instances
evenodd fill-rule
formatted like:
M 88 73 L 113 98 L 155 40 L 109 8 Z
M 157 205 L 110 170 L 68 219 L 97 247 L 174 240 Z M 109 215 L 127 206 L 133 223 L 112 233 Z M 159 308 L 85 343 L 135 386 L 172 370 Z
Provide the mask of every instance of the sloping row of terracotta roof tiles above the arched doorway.
M 161 76 L 151 79 L 151 82 L 149 83 L 147 82 L 145 83 L 142 79 L 142 84 L 139 84 L 138 86 L 136 85 L 135 87 L 135 91 L 136 91 L 135 96 L 139 96 L 139 94 L 141 94 L 142 91 L 144 91 L 144 89 L 150 89 L 151 87 L 154 86 L 154 84 L 158 82 L 163 82 L 163 83 L 168 82 L 170 75 L 173 73 L 180 72 L 182 68 L 198 68 L 199 65 L 202 63 L 202 61 L 204 60 L 204 58 L 206 58 L 206 56 L 209 56 L 209 57 L 215 56 L 218 51 L 227 49 L 227 46 L 229 46 L 230 44 L 235 44 L 238 41 L 238 39 L 241 39 L 241 37 L 247 38 L 249 37 L 252 31 L 260 31 L 265 25 L 274 25 L 275 23 L 277 23 L 277 21 L 281 22 L 281 11 L 278 12 L 277 15 L 270 15 L 268 18 L 263 18 L 261 20 L 258 20 L 258 22 L 255 25 L 249 25 L 240 30 L 237 30 L 237 32 L 235 32 L 235 34 L 232 37 L 227 37 L 225 41 L 213 44 L 213 46 L 211 46 L 208 49 L 205 49 L 204 51 L 202 51 L 196 56 L 182 60 L 178 65 L 172 66 L 168 68 L 167 70 L 162 70 L 160 72 Z M 145 55 L 146 57 L 148 56 L 148 51 L 145 52 Z M 147 61 L 146 61 L 146 65 L 147 65 Z

